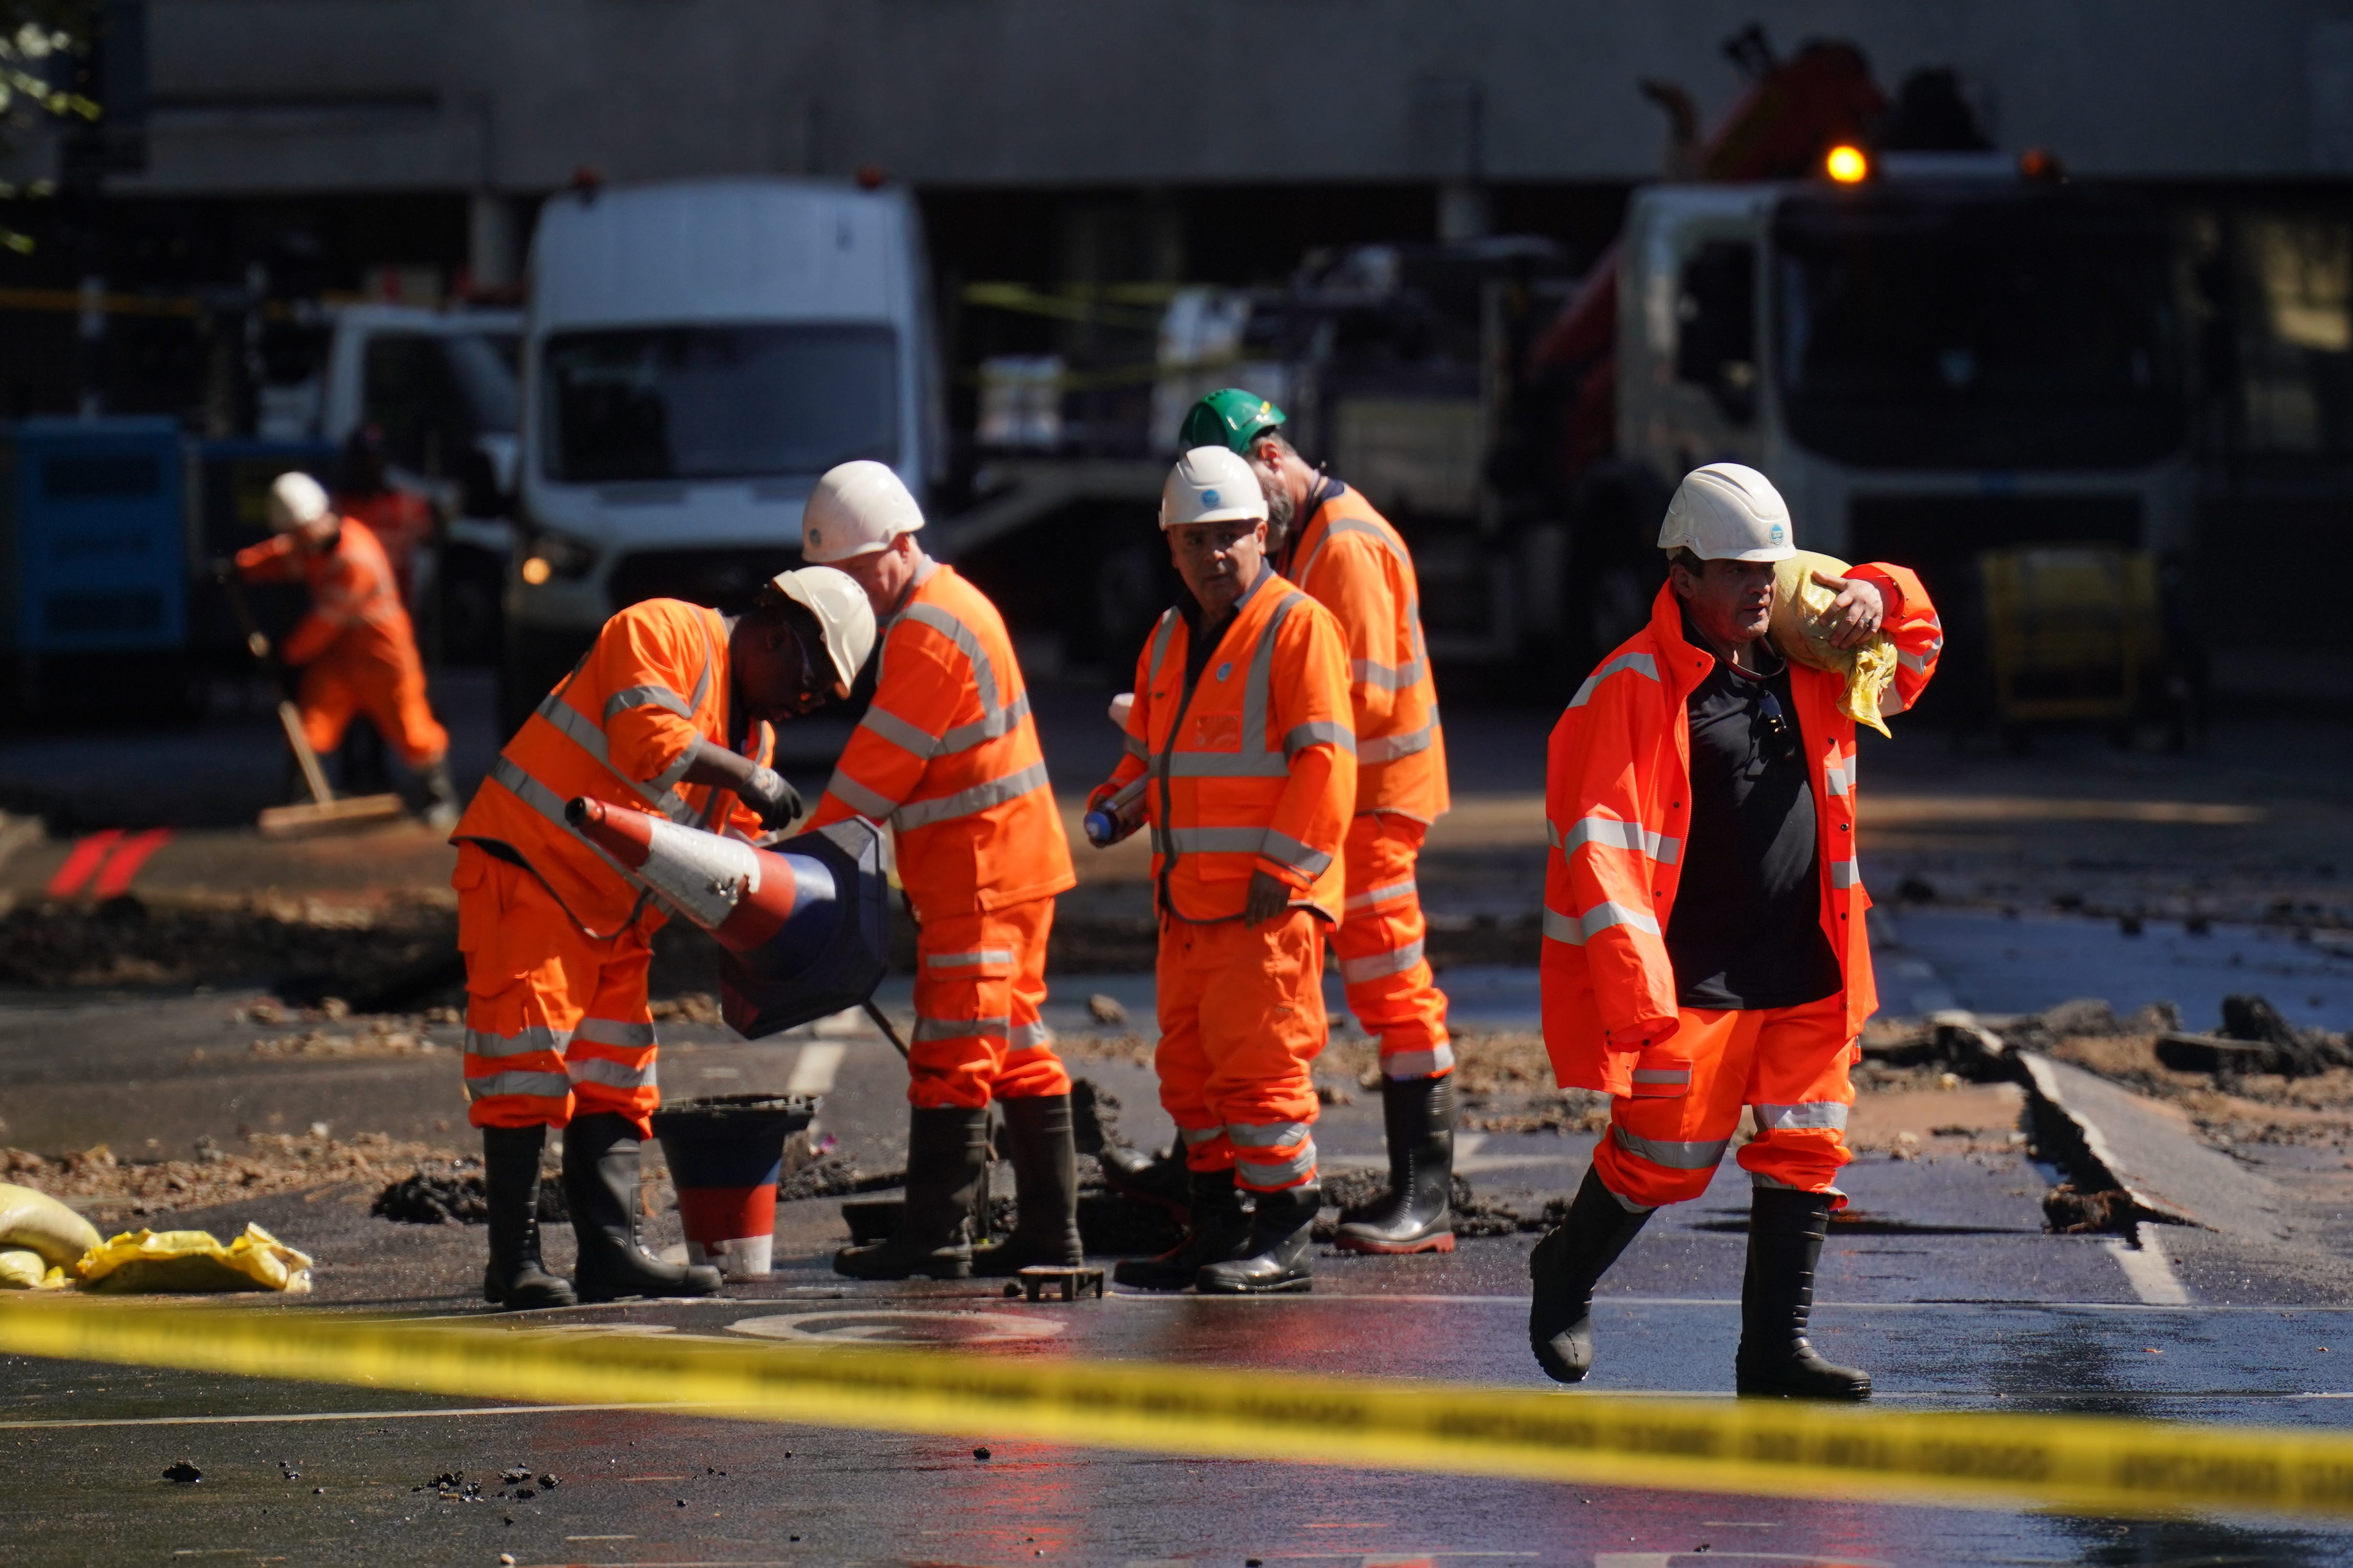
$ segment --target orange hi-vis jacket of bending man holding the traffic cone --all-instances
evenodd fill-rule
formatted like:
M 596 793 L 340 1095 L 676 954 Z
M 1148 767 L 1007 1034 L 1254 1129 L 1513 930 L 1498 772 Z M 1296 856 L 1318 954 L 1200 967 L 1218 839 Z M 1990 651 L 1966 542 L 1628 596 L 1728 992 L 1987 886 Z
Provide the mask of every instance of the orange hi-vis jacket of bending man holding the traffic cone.
M 694 741 L 727 745 L 727 623 L 682 599 L 631 604 L 522 722 L 449 837 L 520 858 L 584 931 L 607 938 L 642 912 L 642 884 L 565 823 L 565 802 L 760 832 L 732 790 L 678 783 Z

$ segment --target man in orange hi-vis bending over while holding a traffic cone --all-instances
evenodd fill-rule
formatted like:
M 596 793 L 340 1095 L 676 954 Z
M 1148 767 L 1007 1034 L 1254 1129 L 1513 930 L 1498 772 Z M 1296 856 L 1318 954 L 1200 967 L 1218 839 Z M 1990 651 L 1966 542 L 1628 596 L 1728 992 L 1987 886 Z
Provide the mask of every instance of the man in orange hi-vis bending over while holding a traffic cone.
M 720 1288 L 718 1269 L 661 1262 L 638 1239 L 638 1147 L 661 1105 L 645 978 L 664 912 L 565 804 L 602 799 L 739 837 L 779 830 L 800 797 L 769 766 L 769 724 L 847 696 L 871 651 L 866 595 L 824 567 L 779 574 L 741 616 L 631 604 L 492 764 L 452 835 L 492 1302 Z M 541 1262 L 534 1222 L 551 1126 L 579 1237 L 569 1286 Z

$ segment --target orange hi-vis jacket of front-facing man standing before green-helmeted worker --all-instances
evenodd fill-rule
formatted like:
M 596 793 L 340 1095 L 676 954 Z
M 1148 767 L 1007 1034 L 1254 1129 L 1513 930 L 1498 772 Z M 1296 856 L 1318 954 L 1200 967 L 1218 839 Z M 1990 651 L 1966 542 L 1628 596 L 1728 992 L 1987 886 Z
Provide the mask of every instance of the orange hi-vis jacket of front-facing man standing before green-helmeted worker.
M 1169 609 L 1136 661 L 1127 755 L 1101 804 L 1151 773 L 1153 884 L 1165 917 L 1240 919 L 1264 870 L 1339 924 L 1355 813 L 1348 649 L 1332 611 L 1261 569 L 1186 679 L 1193 628 Z

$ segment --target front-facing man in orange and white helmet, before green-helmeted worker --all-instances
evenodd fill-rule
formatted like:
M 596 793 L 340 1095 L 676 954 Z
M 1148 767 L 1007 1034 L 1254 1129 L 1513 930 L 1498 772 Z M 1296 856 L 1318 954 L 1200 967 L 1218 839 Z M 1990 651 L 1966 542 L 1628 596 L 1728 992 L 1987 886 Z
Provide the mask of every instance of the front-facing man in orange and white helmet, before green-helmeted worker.
M 1087 837 L 1151 823 L 1160 912 L 1160 1105 L 1191 1168 L 1186 1239 L 1118 1265 L 1148 1291 L 1306 1291 L 1322 947 L 1355 809 L 1348 649 L 1266 562 L 1266 494 L 1226 447 L 1160 491 L 1184 597 L 1136 661 L 1127 755 Z M 1245 1213 L 1245 1194 L 1252 1211 Z

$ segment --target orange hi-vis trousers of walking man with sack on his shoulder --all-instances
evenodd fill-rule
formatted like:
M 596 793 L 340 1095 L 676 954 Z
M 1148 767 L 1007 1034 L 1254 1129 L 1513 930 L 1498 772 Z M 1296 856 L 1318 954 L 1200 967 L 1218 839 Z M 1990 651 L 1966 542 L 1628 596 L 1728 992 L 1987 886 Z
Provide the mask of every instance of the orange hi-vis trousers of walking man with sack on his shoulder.
M 1857 1060 L 1847 999 L 1805 1006 L 1685 1009 L 1682 1027 L 1642 1051 L 1633 1095 L 1609 1100 L 1609 1135 L 1593 1147 L 1602 1185 L 1633 1208 L 1687 1204 L 1708 1190 L 1741 1107 L 1758 1135 L 1739 1161 L 1758 1187 L 1826 1192 L 1845 1208 L 1838 1171 Z

